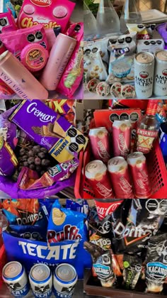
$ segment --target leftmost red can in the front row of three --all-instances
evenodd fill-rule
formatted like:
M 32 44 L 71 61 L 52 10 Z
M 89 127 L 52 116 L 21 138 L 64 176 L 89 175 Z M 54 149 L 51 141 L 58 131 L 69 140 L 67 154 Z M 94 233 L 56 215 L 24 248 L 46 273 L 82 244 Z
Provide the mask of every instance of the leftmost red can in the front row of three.
M 85 175 L 96 199 L 113 199 L 114 193 L 106 165 L 102 160 L 93 160 L 86 165 Z

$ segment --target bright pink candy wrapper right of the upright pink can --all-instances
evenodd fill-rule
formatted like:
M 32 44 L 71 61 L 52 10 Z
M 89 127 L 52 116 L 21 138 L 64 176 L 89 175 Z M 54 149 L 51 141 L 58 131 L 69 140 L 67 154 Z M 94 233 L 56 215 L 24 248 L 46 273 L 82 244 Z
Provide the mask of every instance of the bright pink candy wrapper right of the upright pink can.
M 67 31 L 67 35 L 71 38 L 75 38 L 77 44 L 58 84 L 57 92 L 71 98 L 79 87 L 84 75 L 84 49 L 82 44 L 84 23 L 72 24 Z

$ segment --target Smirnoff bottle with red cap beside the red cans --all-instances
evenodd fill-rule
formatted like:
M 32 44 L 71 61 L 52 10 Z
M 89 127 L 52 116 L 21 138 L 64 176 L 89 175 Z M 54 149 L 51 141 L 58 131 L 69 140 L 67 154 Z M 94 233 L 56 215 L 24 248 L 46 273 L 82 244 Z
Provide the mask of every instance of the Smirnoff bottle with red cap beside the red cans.
M 156 119 L 158 103 L 156 99 L 149 99 L 146 115 L 139 121 L 137 127 L 137 151 L 144 154 L 151 151 L 154 140 L 159 134 L 160 123 Z

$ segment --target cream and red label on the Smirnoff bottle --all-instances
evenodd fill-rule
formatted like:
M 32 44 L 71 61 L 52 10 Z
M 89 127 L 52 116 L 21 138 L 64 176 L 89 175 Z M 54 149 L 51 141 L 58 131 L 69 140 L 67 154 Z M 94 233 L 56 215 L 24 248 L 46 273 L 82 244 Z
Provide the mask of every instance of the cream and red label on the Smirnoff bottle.
M 149 153 L 158 133 L 158 131 L 148 131 L 146 129 L 137 128 L 137 151 Z

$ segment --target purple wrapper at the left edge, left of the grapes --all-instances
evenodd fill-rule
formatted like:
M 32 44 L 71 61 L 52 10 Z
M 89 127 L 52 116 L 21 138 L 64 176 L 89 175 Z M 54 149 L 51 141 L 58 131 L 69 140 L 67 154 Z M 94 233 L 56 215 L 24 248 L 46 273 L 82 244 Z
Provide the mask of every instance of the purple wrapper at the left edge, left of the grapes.
M 4 140 L 4 137 L 0 137 L 0 174 L 10 176 L 13 174 L 18 160 L 13 150 Z

